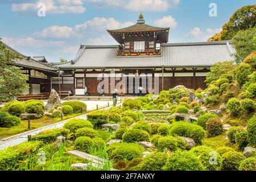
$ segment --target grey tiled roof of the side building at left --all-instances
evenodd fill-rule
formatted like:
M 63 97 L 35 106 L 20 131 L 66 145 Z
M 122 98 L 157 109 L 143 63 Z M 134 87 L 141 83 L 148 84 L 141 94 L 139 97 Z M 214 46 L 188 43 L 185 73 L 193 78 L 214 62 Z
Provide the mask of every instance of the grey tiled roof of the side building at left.
M 10 49 L 13 52 L 19 53 L 19 55 L 21 55 L 23 57 L 22 59 L 13 60 L 13 63 L 11 63 L 12 65 L 16 65 L 18 67 L 23 67 L 23 68 L 38 69 L 38 70 L 46 71 L 46 72 L 56 72 L 58 70 L 58 68 L 56 68 L 56 67 L 51 67 L 49 65 L 40 63 L 40 62 L 32 59 L 31 57 L 22 55 L 22 53 L 11 48 L 7 44 L 5 44 L 5 43 L 3 43 L 3 44 L 5 45 L 5 47 L 7 49 Z

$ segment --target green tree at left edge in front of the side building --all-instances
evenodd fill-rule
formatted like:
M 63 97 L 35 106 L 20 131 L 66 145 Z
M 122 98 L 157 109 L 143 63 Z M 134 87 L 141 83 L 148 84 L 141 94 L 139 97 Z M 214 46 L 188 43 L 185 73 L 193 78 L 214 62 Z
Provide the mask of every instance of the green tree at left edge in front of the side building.
M 10 98 L 9 93 L 19 95 L 29 88 L 29 76 L 22 73 L 21 68 L 10 65 L 15 59 L 23 57 L 6 48 L 0 41 L 0 94 L 2 98 Z

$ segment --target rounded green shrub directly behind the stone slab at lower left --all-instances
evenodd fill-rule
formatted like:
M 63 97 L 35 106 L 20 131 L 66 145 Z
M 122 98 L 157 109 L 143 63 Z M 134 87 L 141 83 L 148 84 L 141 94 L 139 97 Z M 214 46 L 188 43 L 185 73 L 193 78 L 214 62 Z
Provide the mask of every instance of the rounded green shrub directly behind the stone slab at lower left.
M 78 137 L 75 139 L 75 150 L 82 152 L 89 152 L 90 148 L 93 147 L 93 139 L 89 137 Z

